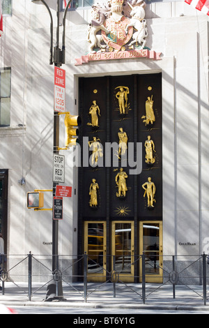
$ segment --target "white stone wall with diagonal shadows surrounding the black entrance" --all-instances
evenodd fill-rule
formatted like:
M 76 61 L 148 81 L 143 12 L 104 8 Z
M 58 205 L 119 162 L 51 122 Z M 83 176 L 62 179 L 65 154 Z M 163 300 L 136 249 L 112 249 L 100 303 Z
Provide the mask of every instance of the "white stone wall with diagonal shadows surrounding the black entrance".
M 54 17 L 55 40 L 56 0 L 47 3 Z M 146 7 L 146 45 L 162 52 L 162 60 L 121 59 L 75 66 L 75 58 L 88 52 L 90 11 L 67 15 L 63 65 L 67 110 L 77 114 L 80 76 L 162 72 L 164 254 L 201 254 L 209 239 L 208 17 L 184 1 L 152 3 Z M 11 124 L 0 128 L 0 167 L 9 169 L 8 253 L 51 254 L 52 246 L 43 242 L 52 242 L 52 213 L 26 209 L 27 191 L 52 188 L 54 66 L 49 66 L 49 14 L 42 4 L 18 0 L 13 1 L 13 16 L 3 22 L 1 67 L 12 68 Z M 62 117 L 60 135 L 62 146 Z M 75 254 L 77 174 L 69 166 L 70 151 L 60 153 L 65 155 L 65 185 L 72 186 L 72 198 L 63 202 L 59 253 Z M 22 176 L 24 186 L 18 184 Z M 51 193 L 45 193 L 45 207 L 52 207 Z M 195 245 L 179 245 L 187 242 Z

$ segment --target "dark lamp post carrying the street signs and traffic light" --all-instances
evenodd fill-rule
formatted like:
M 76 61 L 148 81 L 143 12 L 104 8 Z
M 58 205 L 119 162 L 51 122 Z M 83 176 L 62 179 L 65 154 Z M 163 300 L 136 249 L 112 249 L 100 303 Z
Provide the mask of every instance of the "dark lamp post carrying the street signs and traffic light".
M 65 64 L 65 20 L 68 12 L 68 8 L 72 0 L 68 0 L 67 6 L 65 7 L 65 11 L 63 14 L 63 45 L 62 50 L 59 47 L 59 14 L 60 14 L 60 0 L 56 0 L 56 44 L 54 46 L 54 54 L 53 54 L 53 17 L 52 12 L 45 2 L 45 0 L 31 0 L 33 3 L 39 3 L 40 1 L 45 5 L 49 12 L 50 16 L 50 54 L 49 54 L 49 65 L 53 65 L 56 67 L 60 67 L 62 64 Z M 59 154 L 59 115 L 54 113 L 54 154 Z M 56 183 L 53 182 L 53 197 L 56 192 Z M 52 199 L 53 202 L 53 199 Z M 58 262 L 58 244 L 59 244 L 59 221 L 52 219 L 52 271 L 54 272 L 57 269 Z M 52 301 L 53 299 L 61 299 L 63 297 L 62 284 L 61 281 L 55 286 L 53 283 L 48 286 L 47 298 L 45 301 Z

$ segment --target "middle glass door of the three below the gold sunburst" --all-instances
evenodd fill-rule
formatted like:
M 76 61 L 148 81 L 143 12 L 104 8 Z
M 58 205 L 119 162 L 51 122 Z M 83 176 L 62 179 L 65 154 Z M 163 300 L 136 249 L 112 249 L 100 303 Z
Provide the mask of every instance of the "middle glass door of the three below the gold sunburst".
M 112 269 L 122 281 L 134 281 L 134 223 L 112 223 Z

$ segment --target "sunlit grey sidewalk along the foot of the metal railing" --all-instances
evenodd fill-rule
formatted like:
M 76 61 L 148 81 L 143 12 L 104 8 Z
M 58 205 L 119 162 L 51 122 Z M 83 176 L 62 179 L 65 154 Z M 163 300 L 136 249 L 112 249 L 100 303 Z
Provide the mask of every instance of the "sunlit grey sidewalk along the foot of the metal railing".
M 5 283 L 4 295 L 0 290 L 0 304 L 6 306 L 60 306 L 69 308 L 132 308 L 158 310 L 209 311 L 209 299 L 204 305 L 203 288 L 200 285 L 176 285 L 175 299 L 173 286 L 146 284 L 146 301 L 141 297 L 141 284 L 96 284 L 88 283 L 87 301 L 84 299 L 82 283 L 63 284 L 62 301 L 44 301 L 47 285 L 33 283 L 29 301 L 27 283 Z

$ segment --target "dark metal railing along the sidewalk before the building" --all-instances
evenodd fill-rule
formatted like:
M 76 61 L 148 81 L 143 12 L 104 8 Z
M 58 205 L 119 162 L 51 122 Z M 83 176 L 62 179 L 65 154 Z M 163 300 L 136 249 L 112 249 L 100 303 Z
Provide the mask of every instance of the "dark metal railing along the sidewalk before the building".
M 103 266 L 104 259 L 98 260 L 97 256 L 91 255 L 90 257 L 87 254 L 59 255 L 56 258 L 56 269 L 52 271 L 52 255 L 33 255 L 31 252 L 28 255 L 3 255 L 0 269 L 2 295 L 6 292 L 5 283 L 10 282 L 31 301 L 32 297 L 37 295 L 42 288 L 52 283 L 56 286 L 55 296 L 58 299 L 63 299 L 63 295 L 59 295 L 59 286 L 63 284 L 66 295 L 70 290 L 73 290 L 86 302 L 93 293 L 98 292 L 104 288 L 104 285 L 108 284 L 111 297 L 116 297 L 119 288 L 123 286 L 133 293 L 134 299 L 145 304 L 164 285 L 171 286 L 172 299 L 176 299 L 176 287 L 183 285 L 195 297 L 203 300 L 204 305 L 207 305 L 207 292 L 209 290 L 209 276 L 207 276 L 209 266 L 207 269 L 207 262 L 209 262 L 209 255 L 205 253 L 199 256 L 184 256 L 183 259 L 174 255 L 163 255 L 163 266 L 160 265 L 162 262 L 160 255 L 153 254 L 150 256 L 143 253 L 134 255 L 133 258 L 126 256 L 125 260 L 122 259 L 123 261 L 120 257 L 107 255 L 105 262 L 108 262 L 108 259 L 109 267 L 111 267 L 109 270 Z M 130 274 L 132 266 L 138 268 L 141 266 L 141 276 Z M 152 276 L 150 272 L 159 272 L 160 270 L 162 270 L 162 283 L 153 283 L 150 290 L 147 283 L 148 276 Z M 92 273 L 93 271 L 94 273 Z M 77 272 L 82 272 L 82 274 L 77 274 Z M 132 276 L 134 284 L 127 283 L 130 276 Z M 153 278 L 155 276 L 153 274 Z M 97 278 L 101 282 L 96 283 Z M 21 281 L 26 282 L 26 288 L 22 289 Z M 33 290 L 34 281 L 40 284 L 36 290 Z M 190 283 L 191 281 L 193 283 Z M 193 288 L 194 285 L 201 285 L 201 290 L 196 291 Z M 106 294 L 104 290 L 102 295 L 106 296 Z M 123 297 L 125 297 L 125 292 Z

